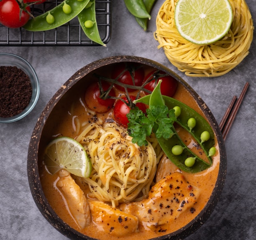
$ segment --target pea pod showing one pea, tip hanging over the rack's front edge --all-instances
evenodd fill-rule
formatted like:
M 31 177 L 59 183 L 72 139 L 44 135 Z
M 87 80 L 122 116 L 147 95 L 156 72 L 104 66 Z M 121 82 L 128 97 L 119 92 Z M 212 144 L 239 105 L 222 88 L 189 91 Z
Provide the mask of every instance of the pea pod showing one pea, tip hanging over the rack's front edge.
M 85 7 L 82 12 L 77 15 L 81 28 L 90 40 L 102 46 L 106 46 L 100 38 L 97 26 L 95 0 L 90 1 L 89 4 L 90 7 Z

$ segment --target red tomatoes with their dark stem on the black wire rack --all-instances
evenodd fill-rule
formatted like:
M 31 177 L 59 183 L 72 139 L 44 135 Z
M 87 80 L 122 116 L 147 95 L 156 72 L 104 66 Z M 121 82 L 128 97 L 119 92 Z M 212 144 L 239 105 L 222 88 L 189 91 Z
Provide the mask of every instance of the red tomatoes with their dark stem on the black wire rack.
M 31 13 L 30 5 L 33 3 L 43 3 L 45 0 L 23 0 L 23 2 L 17 2 L 18 0 L 1 0 L 0 1 L 0 23 L 8 28 L 20 28 L 24 26 Z M 26 11 L 25 11 L 26 10 Z M 20 11 L 22 11 L 20 15 Z

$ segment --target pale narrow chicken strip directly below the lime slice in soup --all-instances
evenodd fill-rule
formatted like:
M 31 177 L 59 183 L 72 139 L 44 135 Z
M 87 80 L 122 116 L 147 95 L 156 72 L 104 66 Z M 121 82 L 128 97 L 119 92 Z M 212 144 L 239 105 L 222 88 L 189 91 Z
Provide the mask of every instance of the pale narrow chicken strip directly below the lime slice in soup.
M 66 200 L 66 207 L 69 213 L 71 213 L 72 218 L 81 229 L 85 228 L 90 224 L 92 218 L 84 192 L 75 183 L 67 170 L 61 169 L 58 175 L 59 180 L 56 183 L 56 187 L 61 192 L 64 200 Z

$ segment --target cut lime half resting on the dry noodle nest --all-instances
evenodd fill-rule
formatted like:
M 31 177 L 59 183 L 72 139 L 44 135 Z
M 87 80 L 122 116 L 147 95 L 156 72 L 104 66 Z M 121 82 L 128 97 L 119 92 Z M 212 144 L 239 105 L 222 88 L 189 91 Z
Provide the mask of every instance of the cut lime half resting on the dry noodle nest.
M 232 19 L 228 0 L 179 0 L 174 10 L 180 35 L 195 44 L 210 44 L 222 38 Z

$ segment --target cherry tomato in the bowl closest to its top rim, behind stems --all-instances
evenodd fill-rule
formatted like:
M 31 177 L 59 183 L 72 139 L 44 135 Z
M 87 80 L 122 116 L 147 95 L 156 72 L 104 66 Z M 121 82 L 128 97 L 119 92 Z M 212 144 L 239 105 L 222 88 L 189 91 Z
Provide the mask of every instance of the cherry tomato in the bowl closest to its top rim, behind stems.
M 118 67 L 112 72 L 112 78 L 118 78 L 118 82 L 128 85 L 141 86 L 144 80 L 144 70 L 136 63 L 120 63 Z M 123 72 L 123 73 L 122 73 Z M 120 75 L 120 76 L 119 76 Z M 119 76 L 119 77 L 118 77 Z M 125 88 L 116 84 L 119 90 L 125 91 Z M 135 89 L 128 88 L 128 92 L 132 92 Z

